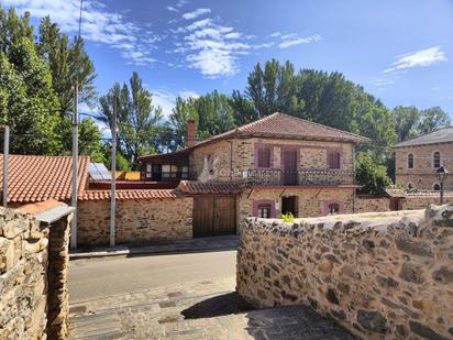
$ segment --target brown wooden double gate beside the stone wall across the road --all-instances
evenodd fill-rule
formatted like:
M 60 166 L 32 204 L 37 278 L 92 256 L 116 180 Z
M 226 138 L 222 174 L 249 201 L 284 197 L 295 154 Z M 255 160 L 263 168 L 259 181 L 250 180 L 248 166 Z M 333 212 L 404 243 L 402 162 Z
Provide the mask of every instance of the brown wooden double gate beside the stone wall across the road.
M 236 233 L 236 197 L 200 195 L 194 197 L 194 238 Z

